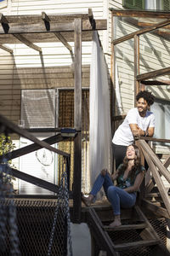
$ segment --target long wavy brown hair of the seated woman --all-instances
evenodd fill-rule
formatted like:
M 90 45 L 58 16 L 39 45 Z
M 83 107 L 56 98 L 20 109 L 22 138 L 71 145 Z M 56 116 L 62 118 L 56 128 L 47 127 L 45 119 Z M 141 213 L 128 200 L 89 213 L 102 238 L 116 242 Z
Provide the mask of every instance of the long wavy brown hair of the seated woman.
M 131 144 L 128 147 L 133 146 L 134 151 L 135 151 L 135 155 L 136 158 L 134 159 L 134 166 L 132 167 L 132 170 L 129 172 L 128 177 L 131 178 L 132 181 L 134 181 L 134 177 L 135 177 L 135 172 L 140 169 L 141 166 L 141 156 L 140 156 L 140 152 L 139 152 L 139 148 L 135 145 L 135 144 Z M 122 162 L 122 166 L 119 170 L 119 176 L 123 175 L 123 173 L 125 172 L 125 170 L 127 169 L 128 166 L 128 160 L 127 160 L 127 155 L 124 157 L 123 162 Z

